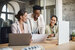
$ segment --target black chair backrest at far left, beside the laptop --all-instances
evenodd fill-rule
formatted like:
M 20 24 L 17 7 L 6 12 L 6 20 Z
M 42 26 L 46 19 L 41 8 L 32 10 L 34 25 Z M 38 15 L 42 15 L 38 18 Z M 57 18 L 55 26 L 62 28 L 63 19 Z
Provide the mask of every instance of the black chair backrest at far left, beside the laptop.
M 9 33 L 11 33 L 11 27 L 2 27 L 1 28 L 1 42 L 8 43 L 9 42 Z

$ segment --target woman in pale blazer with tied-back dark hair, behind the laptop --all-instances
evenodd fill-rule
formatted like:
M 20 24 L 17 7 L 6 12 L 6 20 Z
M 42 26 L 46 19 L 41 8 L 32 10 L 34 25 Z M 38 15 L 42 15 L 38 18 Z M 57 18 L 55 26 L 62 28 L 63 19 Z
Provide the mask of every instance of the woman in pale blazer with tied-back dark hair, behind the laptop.
M 15 17 L 18 19 L 17 22 L 11 26 L 12 33 L 29 33 L 27 25 L 27 12 L 25 9 L 21 9 Z

